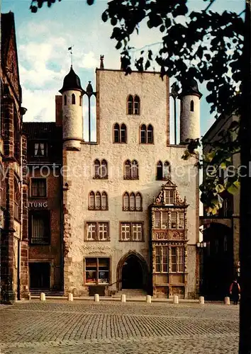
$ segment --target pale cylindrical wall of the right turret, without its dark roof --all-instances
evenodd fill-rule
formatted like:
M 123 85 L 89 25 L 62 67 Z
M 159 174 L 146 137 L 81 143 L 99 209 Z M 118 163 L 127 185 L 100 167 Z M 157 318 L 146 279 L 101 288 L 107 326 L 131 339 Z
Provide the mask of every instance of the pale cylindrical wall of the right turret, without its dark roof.
M 190 110 L 191 101 L 194 101 L 194 112 Z M 200 132 L 200 100 L 198 96 L 187 95 L 182 98 L 180 113 L 180 141 L 198 139 Z

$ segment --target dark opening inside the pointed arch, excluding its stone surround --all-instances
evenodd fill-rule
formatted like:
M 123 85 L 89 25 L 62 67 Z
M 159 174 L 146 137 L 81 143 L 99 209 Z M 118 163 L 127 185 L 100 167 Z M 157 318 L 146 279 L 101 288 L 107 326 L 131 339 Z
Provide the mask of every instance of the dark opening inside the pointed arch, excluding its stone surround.
M 122 268 L 122 289 L 142 289 L 143 268 L 140 259 L 131 255 L 126 258 Z

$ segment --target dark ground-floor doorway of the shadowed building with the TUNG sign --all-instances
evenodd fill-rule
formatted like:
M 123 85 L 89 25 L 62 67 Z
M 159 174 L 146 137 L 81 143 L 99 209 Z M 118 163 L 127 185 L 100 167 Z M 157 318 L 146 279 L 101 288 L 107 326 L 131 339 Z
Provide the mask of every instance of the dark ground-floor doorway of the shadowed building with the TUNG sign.
M 50 289 L 50 263 L 29 263 L 30 289 Z

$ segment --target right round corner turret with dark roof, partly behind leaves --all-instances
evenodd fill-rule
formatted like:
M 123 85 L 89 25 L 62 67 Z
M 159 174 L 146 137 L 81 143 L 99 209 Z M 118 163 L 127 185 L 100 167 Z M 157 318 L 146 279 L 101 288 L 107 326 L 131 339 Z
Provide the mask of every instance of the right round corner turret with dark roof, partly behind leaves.
M 198 139 L 200 132 L 200 99 L 197 81 L 191 79 L 182 86 L 180 108 L 180 144 L 186 143 L 186 139 Z

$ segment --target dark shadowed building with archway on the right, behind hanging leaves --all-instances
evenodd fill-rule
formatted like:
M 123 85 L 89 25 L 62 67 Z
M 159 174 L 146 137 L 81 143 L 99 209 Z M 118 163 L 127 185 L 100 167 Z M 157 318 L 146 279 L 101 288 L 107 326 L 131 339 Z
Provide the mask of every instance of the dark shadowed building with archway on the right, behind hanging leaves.
M 211 143 L 221 139 L 236 115 L 221 115 L 203 136 L 203 152 L 211 152 Z M 240 166 L 240 154 L 232 159 L 235 167 Z M 224 176 L 221 176 L 223 179 Z M 211 216 L 204 212 L 200 217 L 205 248 L 201 249 L 201 293 L 208 299 L 223 299 L 228 296 L 234 278 L 240 276 L 240 195 L 224 191 L 223 207 Z

